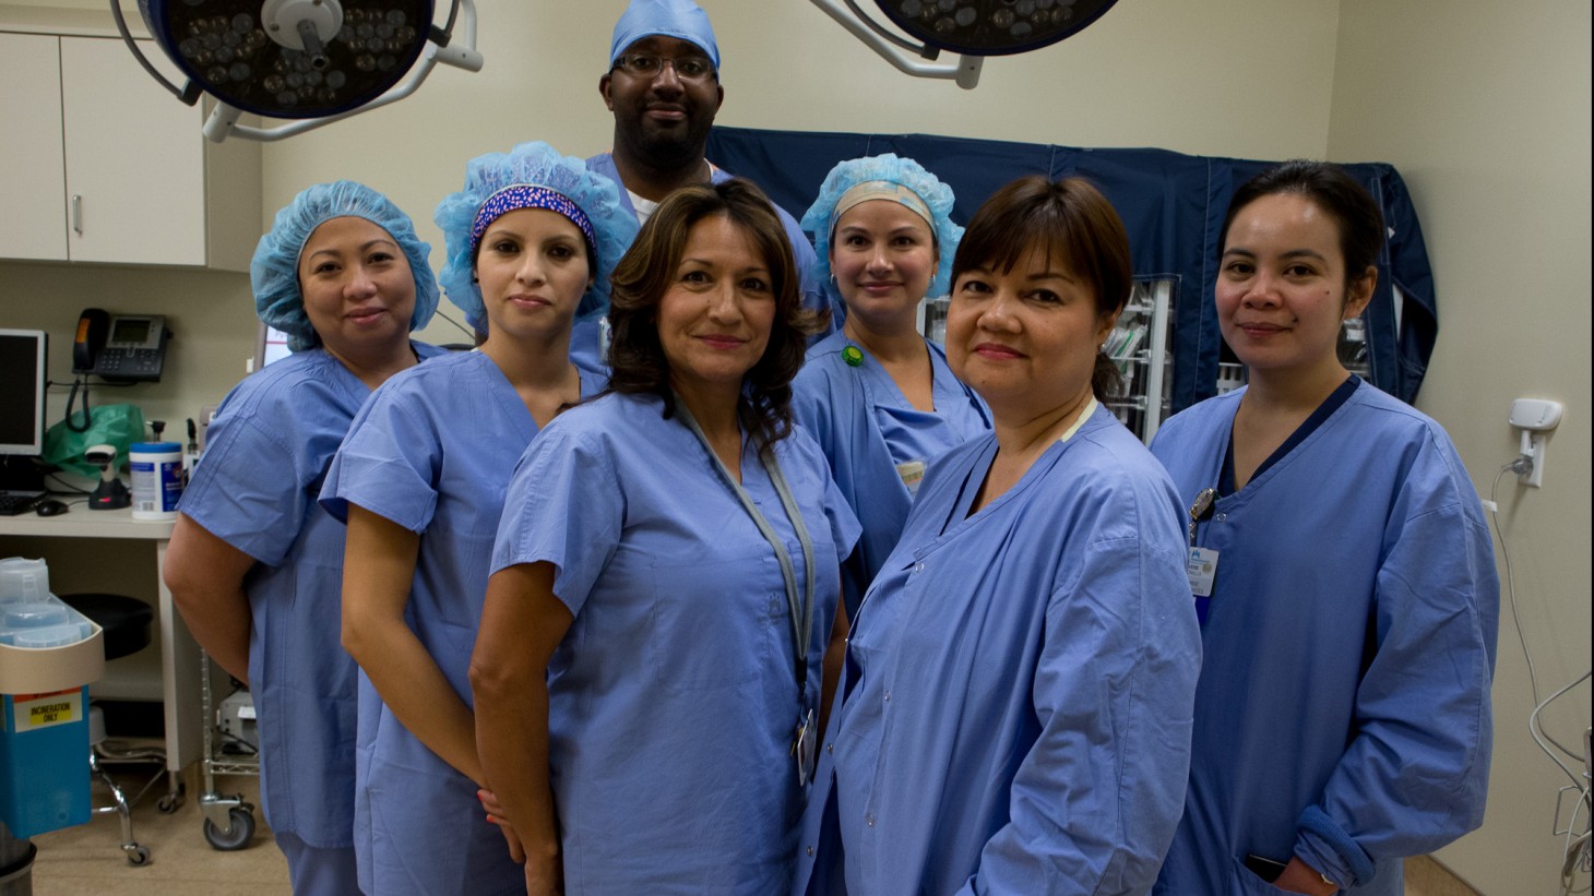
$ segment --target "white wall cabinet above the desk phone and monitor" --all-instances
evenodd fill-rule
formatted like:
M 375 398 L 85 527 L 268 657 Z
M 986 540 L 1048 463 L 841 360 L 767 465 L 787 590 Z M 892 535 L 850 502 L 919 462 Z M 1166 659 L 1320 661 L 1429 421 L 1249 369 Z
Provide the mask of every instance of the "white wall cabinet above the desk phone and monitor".
M 0 258 L 249 269 L 260 148 L 206 142 L 121 40 L 0 33 Z

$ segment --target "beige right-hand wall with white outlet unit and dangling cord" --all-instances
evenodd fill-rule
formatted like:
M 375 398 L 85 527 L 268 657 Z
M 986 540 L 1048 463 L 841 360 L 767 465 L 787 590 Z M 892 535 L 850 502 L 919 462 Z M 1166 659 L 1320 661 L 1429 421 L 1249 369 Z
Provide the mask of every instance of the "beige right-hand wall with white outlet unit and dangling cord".
M 1344 0 L 1331 108 L 1329 156 L 1390 161 L 1411 187 L 1441 303 L 1417 403 L 1486 497 L 1516 454 L 1511 399 L 1565 403 L 1545 486 L 1500 483 L 1521 630 L 1502 596 L 1489 810 L 1439 855 L 1484 893 L 1556 893 L 1568 780 L 1527 733 L 1519 631 L 1541 698 L 1589 668 L 1589 5 Z M 1586 684 L 1546 713 L 1580 751 L 1588 724 Z

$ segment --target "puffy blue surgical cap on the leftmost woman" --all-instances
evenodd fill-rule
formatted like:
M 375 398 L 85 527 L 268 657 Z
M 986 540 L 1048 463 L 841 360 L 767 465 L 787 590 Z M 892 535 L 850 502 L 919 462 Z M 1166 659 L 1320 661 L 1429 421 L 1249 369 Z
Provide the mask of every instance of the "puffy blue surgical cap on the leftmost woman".
M 298 281 L 300 253 L 304 252 L 304 242 L 317 226 L 344 217 L 365 218 L 386 230 L 403 250 L 410 261 L 410 274 L 414 277 L 414 312 L 410 314 L 410 330 L 426 327 L 437 311 L 437 279 L 427 261 L 432 247 L 414 234 L 410 215 L 363 183 L 352 180 L 317 183 L 277 212 L 271 231 L 260 238 L 255 258 L 249 263 L 255 314 L 268 327 L 284 332 L 293 351 L 316 348 L 320 341 L 304 314 L 304 293 L 300 292 Z

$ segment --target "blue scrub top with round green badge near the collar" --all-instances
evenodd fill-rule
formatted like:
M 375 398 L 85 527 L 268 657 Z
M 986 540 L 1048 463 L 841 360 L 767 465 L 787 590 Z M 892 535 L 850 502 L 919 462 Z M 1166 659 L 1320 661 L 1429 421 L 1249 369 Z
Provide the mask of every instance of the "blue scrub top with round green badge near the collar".
M 842 568 L 842 595 L 853 614 L 913 504 L 918 483 L 913 489 L 902 485 L 897 464 L 928 464 L 990 432 L 991 422 L 985 402 L 952 375 L 940 346 L 925 341 L 936 405 L 926 413 L 909 403 L 867 349 L 858 348 L 862 364 L 846 364 L 842 349 L 850 344 L 845 333 L 830 333 L 808 349 L 792 381 L 792 415 L 819 443 L 837 488 L 864 526 L 858 553 Z

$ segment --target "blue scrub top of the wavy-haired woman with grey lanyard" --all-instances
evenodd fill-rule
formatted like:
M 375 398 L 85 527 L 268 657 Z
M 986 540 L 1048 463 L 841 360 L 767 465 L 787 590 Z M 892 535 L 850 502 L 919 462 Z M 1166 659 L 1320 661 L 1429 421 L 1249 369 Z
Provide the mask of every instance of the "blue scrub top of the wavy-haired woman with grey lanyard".
M 786 585 L 713 456 L 657 397 L 566 411 L 515 470 L 493 568 L 548 561 L 575 615 L 548 666 L 567 893 L 783 893 L 802 791 L 792 732 L 819 700 L 858 521 L 800 429 L 776 443 L 815 550 L 807 694 Z M 741 483 L 810 576 L 751 445 Z

